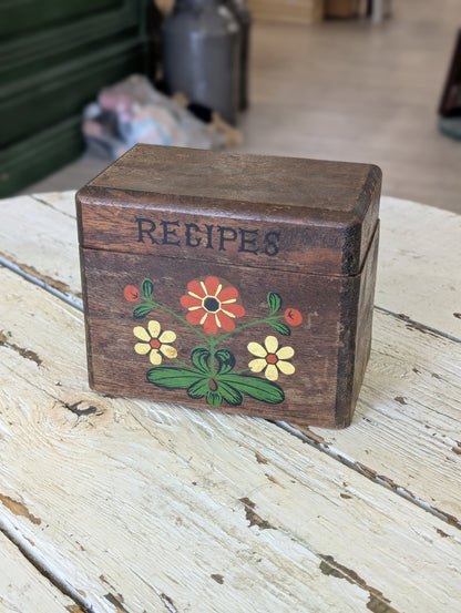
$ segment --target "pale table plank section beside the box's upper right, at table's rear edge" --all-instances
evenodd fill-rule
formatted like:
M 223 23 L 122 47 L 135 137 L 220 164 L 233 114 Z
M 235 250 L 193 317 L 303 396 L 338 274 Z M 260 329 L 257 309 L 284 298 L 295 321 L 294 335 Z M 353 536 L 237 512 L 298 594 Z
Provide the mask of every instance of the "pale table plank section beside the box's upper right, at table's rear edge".
M 461 339 L 461 215 L 383 198 L 376 304 Z

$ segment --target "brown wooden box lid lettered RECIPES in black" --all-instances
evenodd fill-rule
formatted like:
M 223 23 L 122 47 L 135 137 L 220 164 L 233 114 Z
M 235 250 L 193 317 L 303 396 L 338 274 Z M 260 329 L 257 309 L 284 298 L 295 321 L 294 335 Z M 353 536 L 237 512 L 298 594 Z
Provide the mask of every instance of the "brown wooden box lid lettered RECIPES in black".
M 309 274 L 360 273 L 371 164 L 139 144 L 76 194 L 84 248 Z

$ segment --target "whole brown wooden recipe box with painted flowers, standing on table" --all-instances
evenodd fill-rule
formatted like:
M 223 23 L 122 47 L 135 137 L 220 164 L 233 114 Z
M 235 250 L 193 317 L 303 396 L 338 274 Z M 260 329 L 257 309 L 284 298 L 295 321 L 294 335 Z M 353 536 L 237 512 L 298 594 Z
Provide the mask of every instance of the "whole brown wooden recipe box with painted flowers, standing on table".
M 347 426 L 380 181 L 367 164 L 133 147 L 76 195 L 91 387 Z

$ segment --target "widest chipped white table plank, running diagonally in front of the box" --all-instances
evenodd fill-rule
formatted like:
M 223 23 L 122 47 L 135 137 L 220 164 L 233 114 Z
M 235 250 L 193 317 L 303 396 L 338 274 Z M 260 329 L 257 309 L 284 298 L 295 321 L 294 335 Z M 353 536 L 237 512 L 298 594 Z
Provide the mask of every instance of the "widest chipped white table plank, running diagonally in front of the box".
M 458 612 L 457 528 L 267 421 L 88 391 L 81 314 L 0 279 L 0 513 L 98 611 Z

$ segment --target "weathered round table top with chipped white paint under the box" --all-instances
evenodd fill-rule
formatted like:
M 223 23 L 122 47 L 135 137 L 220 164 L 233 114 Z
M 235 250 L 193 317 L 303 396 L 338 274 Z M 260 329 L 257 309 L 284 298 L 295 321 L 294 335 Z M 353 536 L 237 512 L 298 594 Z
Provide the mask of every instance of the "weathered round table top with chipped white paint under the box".
M 86 384 L 73 194 L 0 202 L 0 611 L 459 613 L 461 216 L 382 198 L 354 423 Z

